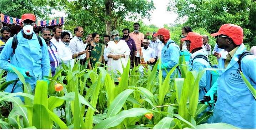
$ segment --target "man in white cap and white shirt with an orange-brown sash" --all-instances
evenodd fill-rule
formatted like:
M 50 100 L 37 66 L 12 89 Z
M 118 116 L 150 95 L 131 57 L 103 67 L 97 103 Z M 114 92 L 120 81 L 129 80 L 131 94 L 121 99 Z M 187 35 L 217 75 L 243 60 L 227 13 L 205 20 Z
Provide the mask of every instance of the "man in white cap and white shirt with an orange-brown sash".
M 150 64 L 155 62 L 156 54 L 154 49 L 149 47 L 150 40 L 144 39 L 142 44 L 143 47 L 138 48 L 138 53 L 136 55 L 137 58 L 136 60 L 136 66 L 140 63 L 141 66 L 139 67 L 139 72 L 143 75 L 144 74 L 144 68 L 146 69 L 152 69 Z M 153 60 L 154 59 L 154 60 Z

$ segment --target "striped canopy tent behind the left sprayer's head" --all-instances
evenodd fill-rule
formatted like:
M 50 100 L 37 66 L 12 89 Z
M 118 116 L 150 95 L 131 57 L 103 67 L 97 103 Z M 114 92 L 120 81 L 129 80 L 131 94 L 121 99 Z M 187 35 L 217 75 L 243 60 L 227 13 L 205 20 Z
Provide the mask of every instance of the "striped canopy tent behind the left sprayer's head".
M 10 17 L 7 15 L 1 14 L 0 22 L 2 23 L 2 26 L 10 27 L 11 30 L 13 30 L 12 33 L 17 33 L 21 30 L 21 27 L 20 27 L 21 19 L 17 19 L 15 17 Z M 60 17 L 59 19 L 53 19 L 53 20 L 36 21 L 36 27 L 37 27 L 37 30 L 39 31 L 44 27 L 48 27 L 52 29 L 55 26 L 61 27 L 63 24 L 64 24 L 63 17 Z

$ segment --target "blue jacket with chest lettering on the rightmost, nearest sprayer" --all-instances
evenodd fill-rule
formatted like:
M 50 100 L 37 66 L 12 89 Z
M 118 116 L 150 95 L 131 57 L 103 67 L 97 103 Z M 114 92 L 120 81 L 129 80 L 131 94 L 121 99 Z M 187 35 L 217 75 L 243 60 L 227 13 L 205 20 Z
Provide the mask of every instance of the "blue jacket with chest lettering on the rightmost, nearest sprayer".
M 225 70 L 219 71 L 217 83 L 218 100 L 212 116 L 213 123 L 227 123 L 242 129 L 256 129 L 256 100 L 243 81 L 239 64 L 242 44 L 235 52 Z M 220 58 L 219 68 L 224 68 L 225 59 Z M 247 55 L 241 61 L 241 70 L 246 79 L 256 89 L 256 56 Z

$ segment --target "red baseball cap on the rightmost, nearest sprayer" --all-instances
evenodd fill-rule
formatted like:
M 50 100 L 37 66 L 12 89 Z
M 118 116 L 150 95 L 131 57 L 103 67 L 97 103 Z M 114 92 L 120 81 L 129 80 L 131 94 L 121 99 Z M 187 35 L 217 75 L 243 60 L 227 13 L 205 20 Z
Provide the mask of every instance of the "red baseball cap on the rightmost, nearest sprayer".
M 229 36 L 236 45 L 241 45 L 244 40 L 244 32 L 243 28 L 234 25 L 234 24 L 224 24 L 220 26 L 220 30 L 216 33 L 211 34 L 211 36 L 218 36 L 218 35 L 227 35 Z

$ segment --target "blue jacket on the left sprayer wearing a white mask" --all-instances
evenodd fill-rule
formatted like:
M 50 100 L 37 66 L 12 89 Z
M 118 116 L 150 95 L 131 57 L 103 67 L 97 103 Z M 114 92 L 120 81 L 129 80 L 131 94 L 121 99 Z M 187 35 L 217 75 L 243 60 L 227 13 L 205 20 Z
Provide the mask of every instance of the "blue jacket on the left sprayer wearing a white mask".
M 15 54 L 13 54 L 12 38 L 6 42 L 1 54 L 0 54 L 0 68 L 8 71 L 9 66 L 12 64 L 16 67 L 26 69 L 30 72 L 31 76 L 43 77 L 49 76 L 50 73 L 50 60 L 48 49 L 45 43 L 45 40 L 42 40 L 42 47 L 39 44 L 39 41 L 36 37 L 36 34 L 33 32 L 32 39 L 28 40 L 22 36 L 23 30 L 17 34 L 18 45 L 15 49 Z M 11 58 L 10 63 L 8 62 L 9 57 Z M 8 73 L 6 81 L 17 79 L 18 76 L 15 73 Z M 34 90 L 37 78 L 25 79 L 25 82 L 28 82 Z M 11 92 L 14 84 L 10 84 L 5 92 Z M 22 83 L 20 81 L 15 85 L 13 93 L 23 92 Z

